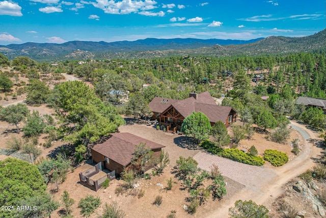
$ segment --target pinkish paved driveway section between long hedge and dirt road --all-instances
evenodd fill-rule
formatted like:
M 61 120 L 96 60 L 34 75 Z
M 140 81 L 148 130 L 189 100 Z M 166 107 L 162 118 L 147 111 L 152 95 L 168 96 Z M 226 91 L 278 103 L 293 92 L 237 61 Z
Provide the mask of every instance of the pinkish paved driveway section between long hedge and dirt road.
M 210 171 L 210 166 L 215 163 L 219 166 L 223 176 L 229 177 L 245 186 L 260 188 L 265 181 L 273 180 L 276 174 L 264 166 L 252 166 L 235 162 L 223 157 L 199 152 L 194 156 L 198 167 Z

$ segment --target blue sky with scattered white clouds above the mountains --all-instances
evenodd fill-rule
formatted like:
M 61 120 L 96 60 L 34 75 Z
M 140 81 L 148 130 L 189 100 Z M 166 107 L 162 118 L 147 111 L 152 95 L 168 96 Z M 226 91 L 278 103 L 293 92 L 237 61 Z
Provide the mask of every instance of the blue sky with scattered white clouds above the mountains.
M 0 0 L 0 44 L 301 37 L 325 20 L 325 0 Z

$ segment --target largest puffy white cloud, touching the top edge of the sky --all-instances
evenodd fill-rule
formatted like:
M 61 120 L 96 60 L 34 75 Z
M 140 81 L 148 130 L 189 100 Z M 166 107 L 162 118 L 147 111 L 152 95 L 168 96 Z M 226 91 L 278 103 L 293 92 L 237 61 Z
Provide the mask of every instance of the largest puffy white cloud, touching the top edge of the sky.
M 96 0 L 95 2 L 87 3 L 85 1 L 80 1 L 83 4 L 92 4 L 95 8 L 102 9 L 104 13 L 107 14 L 130 14 L 137 13 L 148 14 L 148 16 L 161 16 L 164 12 L 146 12 L 157 8 L 155 5 L 157 2 L 154 0 L 144 0 L 144 1 L 135 1 L 135 0 L 122 0 L 120 2 L 115 2 L 113 0 Z

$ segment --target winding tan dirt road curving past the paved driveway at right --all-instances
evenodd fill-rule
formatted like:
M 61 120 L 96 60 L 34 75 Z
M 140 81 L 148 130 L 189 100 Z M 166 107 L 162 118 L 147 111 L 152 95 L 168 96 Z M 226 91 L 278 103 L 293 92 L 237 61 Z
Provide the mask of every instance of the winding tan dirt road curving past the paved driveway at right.
M 304 125 L 291 121 L 291 126 L 295 129 L 300 129 L 299 132 L 306 132 L 311 139 L 319 139 L 316 137 L 315 133 L 307 129 Z M 282 194 L 282 186 L 284 184 L 297 177 L 298 175 L 304 173 L 308 169 L 311 169 L 315 165 L 315 162 L 312 160 L 312 158 L 320 158 L 322 149 L 317 148 L 314 146 L 314 144 L 308 142 L 307 140 L 305 140 L 305 142 L 306 145 L 299 156 L 281 167 L 272 169 L 272 171 L 276 174 L 274 179 L 268 180 L 268 176 L 266 177 L 267 179 L 264 179 L 265 177 L 260 175 L 257 183 L 262 183 L 262 185 L 259 186 L 259 188 L 257 188 L 257 186 L 247 185 L 245 188 L 233 195 L 230 199 L 226 200 L 223 204 L 223 207 L 216 209 L 213 213 L 206 217 L 228 217 L 228 210 L 230 207 L 234 206 L 234 202 L 236 200 L 252 200 L 257 204 L 263 204 L 269 207 L 271 203 Z

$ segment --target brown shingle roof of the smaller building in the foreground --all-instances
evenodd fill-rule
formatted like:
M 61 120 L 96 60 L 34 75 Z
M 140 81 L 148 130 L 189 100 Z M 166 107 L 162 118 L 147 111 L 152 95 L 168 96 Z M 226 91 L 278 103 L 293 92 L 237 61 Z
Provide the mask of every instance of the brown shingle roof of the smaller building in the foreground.
M 161 144 L 130 133 L 112 133 L 112 137 L 103 143 L 95 144 L 92 150 L 120 163 L 123 166 L 131 162 L 136 145 L 146 143 L 150 149 L 164 148 Z

